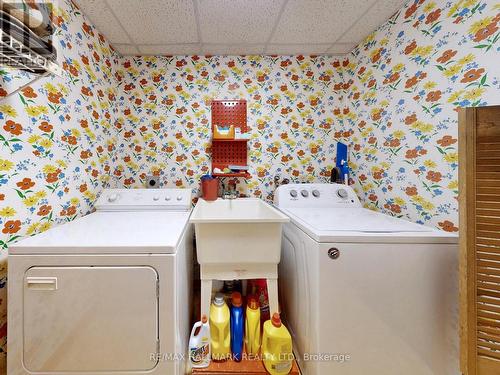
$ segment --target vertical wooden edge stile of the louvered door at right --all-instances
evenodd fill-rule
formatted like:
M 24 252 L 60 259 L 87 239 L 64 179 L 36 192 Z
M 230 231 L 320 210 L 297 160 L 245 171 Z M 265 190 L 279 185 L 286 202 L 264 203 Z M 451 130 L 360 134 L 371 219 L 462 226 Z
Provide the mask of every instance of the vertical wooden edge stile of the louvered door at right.
M 460 206 L 460 369 L 466 375 L 477 374 L 477 311 L 475 251 L 475 158 L 476 109 L 458 112 L 459 206 Z

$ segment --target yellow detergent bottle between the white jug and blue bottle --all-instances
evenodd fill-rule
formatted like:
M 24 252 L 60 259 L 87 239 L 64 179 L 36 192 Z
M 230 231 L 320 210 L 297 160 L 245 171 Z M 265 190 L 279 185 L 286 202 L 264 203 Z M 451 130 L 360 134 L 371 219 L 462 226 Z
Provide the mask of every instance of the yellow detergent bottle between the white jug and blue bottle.
M 215 295 L 210 306 L 210 339 L 212 359 L 224 360 L 231 355 L 229 307 L 221 293 Z

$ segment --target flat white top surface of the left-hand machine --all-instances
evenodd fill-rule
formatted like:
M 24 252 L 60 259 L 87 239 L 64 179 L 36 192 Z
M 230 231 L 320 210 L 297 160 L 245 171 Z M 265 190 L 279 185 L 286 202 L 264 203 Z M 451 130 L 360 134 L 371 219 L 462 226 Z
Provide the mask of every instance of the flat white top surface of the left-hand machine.
M 95 212 L 9 247 L 10 254 L 171 254 L 190 212 Z

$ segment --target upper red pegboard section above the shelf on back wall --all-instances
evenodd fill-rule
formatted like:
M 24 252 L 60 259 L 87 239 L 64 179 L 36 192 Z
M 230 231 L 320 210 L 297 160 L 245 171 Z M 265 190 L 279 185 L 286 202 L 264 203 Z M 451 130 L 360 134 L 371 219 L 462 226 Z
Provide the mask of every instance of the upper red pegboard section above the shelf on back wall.
M 215 125 L 233 125 L 235 128 L 240 128 L 242 133 L 246 133 L 247 101 L 212 100 L 212 131 Z

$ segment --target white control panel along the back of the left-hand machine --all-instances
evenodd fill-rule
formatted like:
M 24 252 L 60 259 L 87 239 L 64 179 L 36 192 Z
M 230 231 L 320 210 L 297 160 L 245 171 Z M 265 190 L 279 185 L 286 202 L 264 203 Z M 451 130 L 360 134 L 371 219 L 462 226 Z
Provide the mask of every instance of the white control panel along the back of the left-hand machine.
M 191 189 L 105 189 L 98 211 L 189 211 Z

